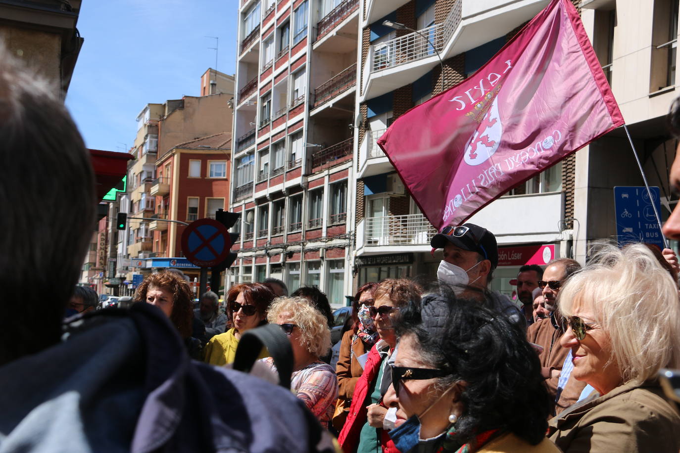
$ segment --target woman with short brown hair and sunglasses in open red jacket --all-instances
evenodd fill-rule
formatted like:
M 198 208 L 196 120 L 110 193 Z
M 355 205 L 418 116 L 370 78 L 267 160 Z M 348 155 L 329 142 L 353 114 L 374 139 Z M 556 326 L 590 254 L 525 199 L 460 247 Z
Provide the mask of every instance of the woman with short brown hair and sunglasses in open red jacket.
M 379 340 L 365 358 L 364 372 L 357 380 L 352 405 L 338 441 L 344 452 L 397 452 L 383 429 L 387 408 L 382 397 L 390 386 L 388 361 L 396 346 L 392 321 L 409 301 L 420 301 L 420 287 L 410 280 L 388 278 L 373 293 L 375 300 L 368 310 Z

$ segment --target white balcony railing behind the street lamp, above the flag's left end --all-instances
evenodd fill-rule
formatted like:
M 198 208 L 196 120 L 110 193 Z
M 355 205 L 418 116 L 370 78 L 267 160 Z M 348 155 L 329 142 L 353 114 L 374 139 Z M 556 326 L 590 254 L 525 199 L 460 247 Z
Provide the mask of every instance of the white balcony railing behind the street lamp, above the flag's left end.
M 460 0 L 458 3 L 460 3 Z M 444 24 L 434 24 L 426 29 L 419 30 L 420 33 L 409 33 L 384 43 L 374 44 L 371 68 L 373 71 L 381 71 L 428 56 L 435 56 L 437 52 L 443 49 L 443 31 Z M 425 37 L 428 37 L 434 44 L 434 48 Z

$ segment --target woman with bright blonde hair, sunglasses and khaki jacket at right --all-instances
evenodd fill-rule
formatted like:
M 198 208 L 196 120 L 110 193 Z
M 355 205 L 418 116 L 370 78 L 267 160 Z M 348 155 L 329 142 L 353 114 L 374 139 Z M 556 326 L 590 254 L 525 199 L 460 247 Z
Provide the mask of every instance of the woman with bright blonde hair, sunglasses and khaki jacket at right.
M 680 416 L 658 383 L 680 367 L 677 286 L 644 244 L 600 250 L 560 291 L 570 378 L 595 391 L 550 420 L 564 452 L 678 452 Z

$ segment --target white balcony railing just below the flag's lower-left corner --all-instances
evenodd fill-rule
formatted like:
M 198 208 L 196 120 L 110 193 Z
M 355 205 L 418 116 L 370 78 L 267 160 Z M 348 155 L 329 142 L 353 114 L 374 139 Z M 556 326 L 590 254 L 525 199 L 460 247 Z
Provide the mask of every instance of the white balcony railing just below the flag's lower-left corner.
M 366 245 L 428 245 L 437 230 L 422 214 L 367 217 Z

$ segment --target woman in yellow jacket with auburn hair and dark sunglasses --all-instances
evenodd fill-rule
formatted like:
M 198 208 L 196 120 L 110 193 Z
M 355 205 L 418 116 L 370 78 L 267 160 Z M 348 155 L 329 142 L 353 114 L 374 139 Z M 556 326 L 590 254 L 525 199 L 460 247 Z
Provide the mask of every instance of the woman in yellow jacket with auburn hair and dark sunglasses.
M 233 363 L 241 334 L 267 323 L 267 309 L 274 300 L 271 288 L 262 283 L 234 285 L 226 294 L 226 311 L 231 329 L 216 335 L 205 345 L 204 361 L 212 365 Z M 260 358 L 269 352 L 262 350 Z

